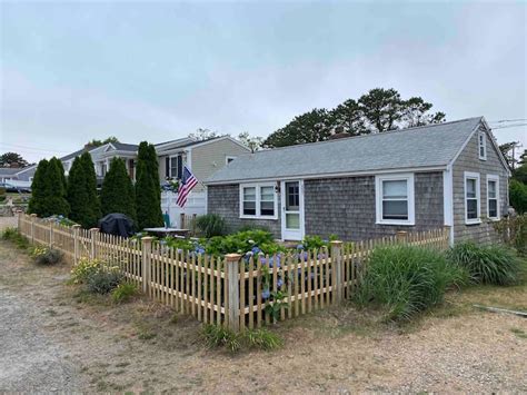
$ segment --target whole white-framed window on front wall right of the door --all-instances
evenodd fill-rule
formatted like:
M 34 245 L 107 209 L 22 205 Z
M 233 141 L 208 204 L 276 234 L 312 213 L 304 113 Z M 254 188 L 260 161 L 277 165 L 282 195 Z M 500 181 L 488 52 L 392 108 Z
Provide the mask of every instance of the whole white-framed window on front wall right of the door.
M 377 224 L 414 225 L 414 175 L 376 177 Z

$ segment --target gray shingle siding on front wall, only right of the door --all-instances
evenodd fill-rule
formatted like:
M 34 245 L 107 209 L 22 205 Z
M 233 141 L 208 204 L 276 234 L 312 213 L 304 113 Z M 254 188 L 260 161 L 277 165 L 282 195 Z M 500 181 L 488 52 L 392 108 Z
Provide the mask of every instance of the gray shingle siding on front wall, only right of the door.
M 416 225 L 377 225 L 375 177 L 327 178 L 305 181 L 306 235 L 362 240 L 397 230 L 426 230 L 444 225 L 443 174 L 415 175 Z

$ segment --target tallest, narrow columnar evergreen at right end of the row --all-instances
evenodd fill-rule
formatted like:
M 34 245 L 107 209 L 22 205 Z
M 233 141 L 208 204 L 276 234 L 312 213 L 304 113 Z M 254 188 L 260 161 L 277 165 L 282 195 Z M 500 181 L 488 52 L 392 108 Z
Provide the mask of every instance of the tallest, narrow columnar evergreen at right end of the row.
M 156 148 L 142 141 L 139 145 L 136 178 L 137 220 L 140 229 L 163 225 L 161 185 Z

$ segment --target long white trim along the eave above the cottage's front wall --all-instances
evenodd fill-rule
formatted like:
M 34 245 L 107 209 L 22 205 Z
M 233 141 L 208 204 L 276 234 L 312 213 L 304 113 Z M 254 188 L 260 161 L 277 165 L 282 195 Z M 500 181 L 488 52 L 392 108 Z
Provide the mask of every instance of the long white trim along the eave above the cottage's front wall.
M 376 176 L 376 175 L 400 174 L 400 172 L 427 172 L 427 171 L 443 171 L 446 168 L 447 168 L 446 166 L 432 166 L 432 167 L 415 167 L 415 168 L 396 168 L 396 169 L 385 169 L 385 170 L 364 170 L 364 171 L 354 171 L 354 172 L 318 174 L 318 175 L 309 175 L 309 176 L 233 179 L 233 180 L 210 181 L 210 182 L 203 181 L 203 185 L 229 185 L 229 184 L 264 182 L 264 181 L 297 180 L 297 179 L 342 178 L 342 177 Z

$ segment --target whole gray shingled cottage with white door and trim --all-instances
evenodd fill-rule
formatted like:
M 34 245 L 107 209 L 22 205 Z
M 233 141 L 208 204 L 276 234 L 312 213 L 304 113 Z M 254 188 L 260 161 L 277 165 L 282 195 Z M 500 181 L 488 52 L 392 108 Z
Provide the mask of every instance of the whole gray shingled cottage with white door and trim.
M 236 228 L 345 240 L 451 227 L 451 241 L 495 237 L 509 169 L 483 117 L 264 150 L 207 181 L 208 213 Z

